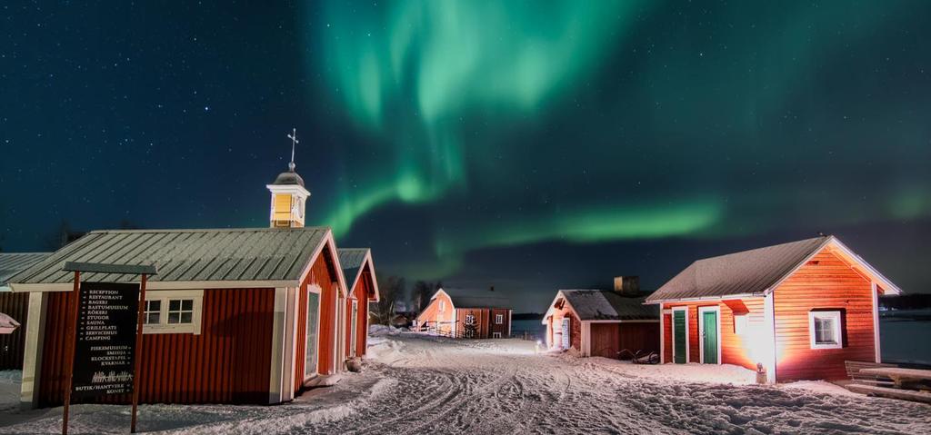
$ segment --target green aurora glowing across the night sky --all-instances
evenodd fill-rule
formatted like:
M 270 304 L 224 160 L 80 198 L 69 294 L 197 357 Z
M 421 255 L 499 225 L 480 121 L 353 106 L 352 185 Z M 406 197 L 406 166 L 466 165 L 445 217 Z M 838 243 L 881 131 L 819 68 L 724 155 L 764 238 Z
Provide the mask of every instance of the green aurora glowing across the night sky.
M 867 60 L 849 59 L 851 46 L 909 13 L 859 6 L 330 2 L 309 16 L 308 53 L 322 56 L 309 64 L 325 66 L 330 97 L 386 158 L 354 167 L 323 220 L 342 236 L 385 204 L 452 207 L 433 234 L 442 275 L 490 246 L 745 234 L 803 209 L 826 224 L 927 216 L 926 173 L 843 186 L 863 164 L 834 144 L 878 136 L 857 119 L 916 109 L 816 97 L 840 91 L 833 69 Z M 914 141 L 927 125 L 911 128 L 880 135 L 895 159 L 874 155 L 870 169 L 898 169 L 897 149 L 926 162 Z M 817 173 L 827 161 L 840 180 Z

